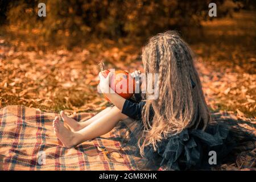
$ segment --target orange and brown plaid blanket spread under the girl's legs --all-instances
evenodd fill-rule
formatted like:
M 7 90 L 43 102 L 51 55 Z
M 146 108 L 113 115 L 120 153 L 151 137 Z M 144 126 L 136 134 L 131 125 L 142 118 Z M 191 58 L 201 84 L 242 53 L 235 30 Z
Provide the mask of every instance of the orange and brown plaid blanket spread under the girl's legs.
M 118 137 L 129 132 L 123 122 L 102 137 L 68 149 L 53 134 L 56 115 L 25 106 L 2 108 L 0 169 L 134 170 L 137 158 L 123 151 L 122 138 Z

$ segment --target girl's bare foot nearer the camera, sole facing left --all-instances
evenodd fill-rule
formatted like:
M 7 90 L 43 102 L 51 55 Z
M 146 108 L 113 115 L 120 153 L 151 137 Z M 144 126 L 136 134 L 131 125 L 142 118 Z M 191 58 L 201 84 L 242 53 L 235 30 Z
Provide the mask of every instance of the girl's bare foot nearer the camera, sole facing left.
M 60 139 L 64 147 L 72 148 L 75 146 L 75 134 L 63 125 L 63 122 L 60 121 L 59 117 L 55 117 L 52 126 L 54 134 Z

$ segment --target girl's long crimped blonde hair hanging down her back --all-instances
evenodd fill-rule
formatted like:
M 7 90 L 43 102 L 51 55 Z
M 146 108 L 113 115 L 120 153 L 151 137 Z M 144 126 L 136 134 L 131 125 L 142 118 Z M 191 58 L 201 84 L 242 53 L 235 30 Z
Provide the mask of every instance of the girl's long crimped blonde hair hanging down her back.
M 159 73 L 159 97 L 147 100 L 142 110 L 144 132 L 139 148 L 143 155 L 145 146 L 151 144 L 156 150 L 163 138 L 183 129 L 204 130 L 210 114 L 192 51 L 177 32 L 167 31 L 152 37 L 143 48 L 142 61 L 146 75 Z M 150 119 L 151 108 L 154 117 Z

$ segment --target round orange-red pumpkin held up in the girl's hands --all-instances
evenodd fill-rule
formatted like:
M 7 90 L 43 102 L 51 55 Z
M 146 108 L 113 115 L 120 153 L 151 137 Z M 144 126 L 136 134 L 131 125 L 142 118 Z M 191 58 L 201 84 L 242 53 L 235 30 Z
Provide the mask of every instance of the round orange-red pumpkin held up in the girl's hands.
M 101 73 L 102 76 L 106 78 L 109 72 L 109 69 L 106 69 Z M 131 77 L 129 73 L 117 70 L 110 78 L 110 88 L 112 88 L 119 96 L 129 99 L 135 92 L 135 79 Z M 109 101 L 108 97 L 105 96 L 105 98 Z

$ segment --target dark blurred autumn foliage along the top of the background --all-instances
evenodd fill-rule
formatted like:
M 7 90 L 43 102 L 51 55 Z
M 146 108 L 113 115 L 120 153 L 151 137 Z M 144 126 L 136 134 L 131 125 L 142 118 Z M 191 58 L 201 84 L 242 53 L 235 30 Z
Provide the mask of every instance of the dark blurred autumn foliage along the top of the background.
M 46 3 L 47 16 L 39 17 L 38 3 Z M 39 46 L 51 42 L 71 48 L 90 39 L 109 38 L 143 42 L 164 30 L 200 28 L 207 20 L 210 0 L 96 0 L 96 1 L 0 1 L 0 24 L 9 24 L 35 35 Z M 234 11 L 254 9 L 255 1 L 222 0 L 217 16 L 232 16 Z M 42 40 L 39 38 L 43 38 Z M 44 45 L 48 46 L 48 44 Z

